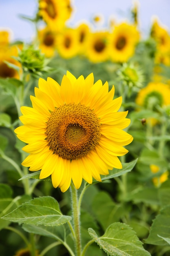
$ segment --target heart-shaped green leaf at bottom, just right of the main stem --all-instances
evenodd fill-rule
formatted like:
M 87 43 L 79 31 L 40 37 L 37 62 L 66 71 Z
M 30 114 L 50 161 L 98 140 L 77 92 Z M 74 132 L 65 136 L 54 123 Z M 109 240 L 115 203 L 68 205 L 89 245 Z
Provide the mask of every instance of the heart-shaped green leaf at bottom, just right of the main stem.
M 124 223 L 115 222 L 111 224 L 103 236 L 97 237 L 95 231 L 88 229 L 89 234 L 110 256 L 149 256 L 135 231 Z

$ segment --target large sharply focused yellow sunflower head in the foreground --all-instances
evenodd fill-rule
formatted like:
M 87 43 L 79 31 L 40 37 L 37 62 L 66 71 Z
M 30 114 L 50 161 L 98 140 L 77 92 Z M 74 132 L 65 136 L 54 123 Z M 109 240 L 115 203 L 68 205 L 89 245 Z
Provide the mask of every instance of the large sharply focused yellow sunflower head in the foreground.
M 51 78 L 40 79 L 31 96 L 33 108 L 21 107 L 24 126 L 15 129 L 30 154 L 22 165 L 41 170 L 40 179 L 51 175 L 62 192 L 71 180 L 79 189 L 82 179 L 91 184 L 108 175 L 108 169 L 122 168 L 117 156 L 128 152 L 123 146 L 132 136 L 122 130 L 130 119 L 128 111 L 117 112 L 122 99 L 113 100 L 114 92 L 114 86 L 108 92 L 107 82 L 94 84 L 93 73 L 76 79 L 67 72 L 61 86 Z

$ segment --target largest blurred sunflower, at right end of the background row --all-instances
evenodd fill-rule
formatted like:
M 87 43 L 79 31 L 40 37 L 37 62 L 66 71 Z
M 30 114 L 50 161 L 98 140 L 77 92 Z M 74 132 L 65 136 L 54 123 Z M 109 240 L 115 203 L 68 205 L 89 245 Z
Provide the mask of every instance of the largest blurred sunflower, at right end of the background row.
M 136 26 L 121 23 L 110 33 L 108 49 L 111 61 L 126 62 L 135 52 L 139 41 L 139 31 Z

